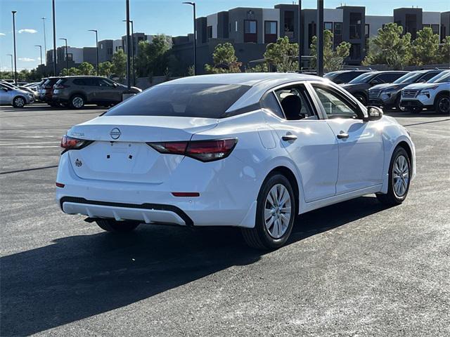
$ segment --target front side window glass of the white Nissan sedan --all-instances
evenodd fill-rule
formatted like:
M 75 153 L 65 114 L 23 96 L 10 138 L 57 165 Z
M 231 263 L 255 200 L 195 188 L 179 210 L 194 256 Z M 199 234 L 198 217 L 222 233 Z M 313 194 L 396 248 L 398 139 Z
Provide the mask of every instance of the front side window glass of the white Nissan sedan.
M 356 107 L 352 107 L 345 98 L 322 86 L 313 85 L 313 88 L 314 91 L 316 91 L 317 97 L 319 98 L 328 119 L 358 119 L 358 110 Z

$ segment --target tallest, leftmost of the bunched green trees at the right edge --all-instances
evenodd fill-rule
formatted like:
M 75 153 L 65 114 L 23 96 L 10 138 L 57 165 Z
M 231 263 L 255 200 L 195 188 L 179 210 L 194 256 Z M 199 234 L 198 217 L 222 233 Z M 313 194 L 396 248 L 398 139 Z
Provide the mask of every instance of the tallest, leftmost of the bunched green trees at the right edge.
M 369 52 L 363 65 L 388 65 L 396 70 L 403 69 L 411 60 L 411 34 L 403 33 L 403 27 L 388 23 L 378 29 L 378 35 L 369 41 Z

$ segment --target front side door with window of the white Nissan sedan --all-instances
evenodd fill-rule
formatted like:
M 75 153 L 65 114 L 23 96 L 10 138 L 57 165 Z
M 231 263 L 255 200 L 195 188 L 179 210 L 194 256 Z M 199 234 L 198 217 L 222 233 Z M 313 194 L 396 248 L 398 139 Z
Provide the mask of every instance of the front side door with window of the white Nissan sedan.
M 336 194 L 383 183 L 381 121 L 364 121 L 359 105 L 337 88 L 311 84 L 339 145 Z

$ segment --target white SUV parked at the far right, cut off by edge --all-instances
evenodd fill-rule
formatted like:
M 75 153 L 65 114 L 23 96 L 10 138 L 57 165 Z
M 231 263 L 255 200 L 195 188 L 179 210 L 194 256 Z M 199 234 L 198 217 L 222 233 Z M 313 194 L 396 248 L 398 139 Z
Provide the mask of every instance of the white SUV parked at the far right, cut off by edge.
M 450 113 L 450 70 L 441 72 L 426 83 L 410 84 L 401 90 L 400 106 L 418 113 L 424 108 L 440 114 Z

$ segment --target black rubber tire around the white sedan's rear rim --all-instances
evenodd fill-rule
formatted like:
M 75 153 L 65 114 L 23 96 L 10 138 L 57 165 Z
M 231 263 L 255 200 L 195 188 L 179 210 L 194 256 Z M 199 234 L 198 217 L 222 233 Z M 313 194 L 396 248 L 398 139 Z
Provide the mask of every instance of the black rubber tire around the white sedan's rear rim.
M 266 208 L 266 198 L 272 187 L 275 185 L 283 185 L 289 193 L 290 197 L 290 220 L 288 227 L 281 237 L 274 238 L 269 234 L 269 230 L 266 228 L 266 223 L 264 220 L 264 209 Z M 278 249 L 290 236 L 290 232 L 293 230 L 293 225 L 295 217 L 297 216 L 297 202 L 295 200 L 295 193 L 293 187 L 290 185 L 288 178 L 280 173 L 274 173 L 264 180 L 261 190 L 259 190 L 257 198 L 257 211 L 256 211 L 256 222 L 253 228 L 242 228 L 241 232 L 245 243 L 248 246 L 255 249 Z

